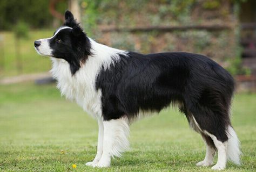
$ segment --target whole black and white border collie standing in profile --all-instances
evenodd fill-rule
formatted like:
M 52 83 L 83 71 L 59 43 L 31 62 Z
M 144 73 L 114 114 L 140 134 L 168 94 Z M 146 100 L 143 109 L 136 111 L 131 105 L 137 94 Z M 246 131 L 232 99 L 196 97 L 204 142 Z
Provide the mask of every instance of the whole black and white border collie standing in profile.
M 97 154 L 87 166 L 109 167 L 129 147 L 129 125 L 147 113 L 175 103 L 206 143 L 197 166 L 224 169 L 227 159 L 240 163 L 239 140 L 230 121 L 232 76 L 199 54 L 140 54 L 88 38 L 65 12 L 65 23 L 51 38 L 35 41 L 36 51 L 52 60 L 52 75 L 66 98 L 97 118 Z

